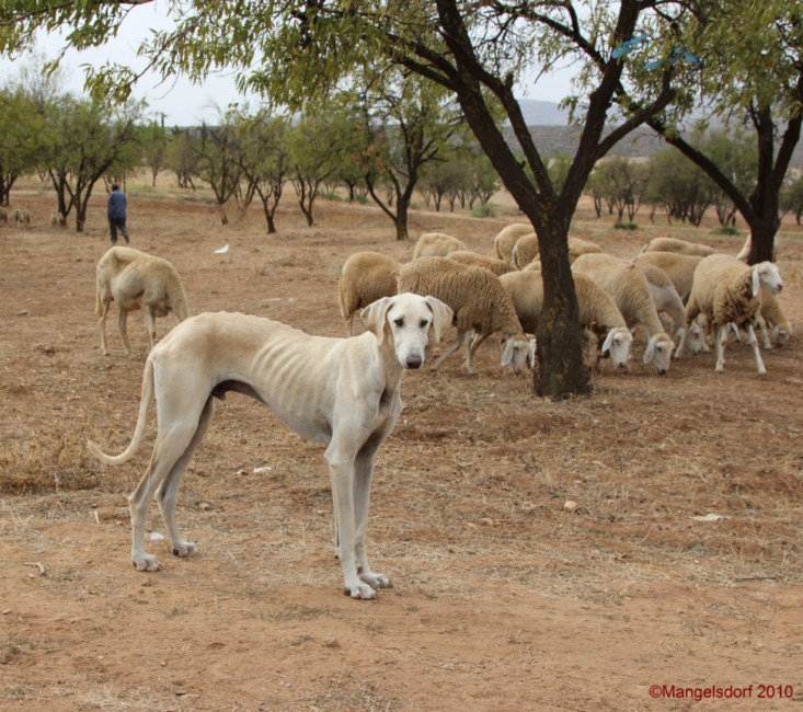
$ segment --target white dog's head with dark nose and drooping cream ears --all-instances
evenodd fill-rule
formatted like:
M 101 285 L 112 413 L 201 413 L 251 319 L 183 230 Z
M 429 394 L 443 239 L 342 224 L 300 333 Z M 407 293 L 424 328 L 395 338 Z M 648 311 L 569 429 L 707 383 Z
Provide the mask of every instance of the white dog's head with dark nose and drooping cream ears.
M 359 315 L 380 345 L 390 336 L 402 367 L 420 368 L 424 363 L 431 330 L 432 341 L 437 344 L 454 314 L 447 305 L 435 297 L 404 292 L 378 299 L 363 309 Z

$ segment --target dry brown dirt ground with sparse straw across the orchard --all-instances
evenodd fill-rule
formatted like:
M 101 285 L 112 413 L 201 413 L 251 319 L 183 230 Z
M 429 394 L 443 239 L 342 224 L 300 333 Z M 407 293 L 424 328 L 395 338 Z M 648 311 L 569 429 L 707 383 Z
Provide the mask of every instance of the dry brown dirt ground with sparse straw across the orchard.
M 154 425 L 118 468 L 84 446 L 130 439 L 147 348 L 135 313 L 126 357 L 115 308 L 113 355 L 99 348 L 105 196 L 84 234 L 49 227 L 44 188 L 14 198 L 33 226 L 0 226 L 1 709 L 691 710 L 693 696 L 706 709 L 801 709 L 799 335 L 765 354 L 766 378 L 745 345 L 722 376 L 700 355 L 657 377 L 642 342 L 632 372 L 604 366 L 593 397 L 564 403 L 504 371 L 493 340 L 479 378 L 457 357 L 405 375 L 370 518 L 374 564 L 394 587 L 372 602 L 341 594 L 322 448 L 232 394 L 179 501 L 198 555 L 152 541 L 164 567 L 137 573 L 126 496 Z M 255 208 L 221 226 L 208 204 L 142 191 L 129 211 L 131 246 L 173 262 L 194 312 L 317 334 L 343 334 L 336 282 L 351 253 L 412 249 L 377 209 L 335 202 L 308 228 L 286 198 L 275 237 Z M 411 232 L 491 254 L 514 220 L 504 205 L 483 220 L 421 210 Z M 611 223 L 585 210 L 574 233 L 626 256 L 670 232 Z M 708 228 L 672 234 L 741 244 Z M 796 324 L 802 236 L 784 223 L 779 253 Z M 156 506 L 149 525 L 165 533 Z

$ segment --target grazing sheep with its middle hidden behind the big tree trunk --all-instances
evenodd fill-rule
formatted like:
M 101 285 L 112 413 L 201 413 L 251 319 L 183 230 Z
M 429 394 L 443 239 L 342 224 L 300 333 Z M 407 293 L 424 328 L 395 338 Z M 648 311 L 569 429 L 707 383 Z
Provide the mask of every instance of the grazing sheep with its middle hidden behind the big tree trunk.
M 576 274 L 574 290 L 577 295 L 580 322 L 593 340 L 588 353 L 590 365 L 596 364 L 597 340 L 603 338 L 601 353 L 609 352 L 617 368 L 628 367 L 630 344 L 633 336 L 613 299 L 585 275 Z M 525 333 L 535 334 L 543 309 L 543 280 L 538 272 L 523 269 L 500 277 L 502 286 L 511 296 L 516 315 Z

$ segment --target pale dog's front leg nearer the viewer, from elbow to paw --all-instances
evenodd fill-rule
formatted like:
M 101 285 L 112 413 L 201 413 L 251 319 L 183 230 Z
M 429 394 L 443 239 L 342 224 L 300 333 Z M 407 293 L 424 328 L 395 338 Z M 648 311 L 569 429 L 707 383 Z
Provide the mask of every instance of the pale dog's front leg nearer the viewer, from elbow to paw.
M 355 558 L 355 521 L 354 521 L 354 459 L 335 457 L 326 451 L 329 474 L 332 483 L 332 502 L 334 504 L 335 527 L 343 569 L 344 593 L 352 598 L 371 599 L 377 594 L 374 588 L 360 581 Z

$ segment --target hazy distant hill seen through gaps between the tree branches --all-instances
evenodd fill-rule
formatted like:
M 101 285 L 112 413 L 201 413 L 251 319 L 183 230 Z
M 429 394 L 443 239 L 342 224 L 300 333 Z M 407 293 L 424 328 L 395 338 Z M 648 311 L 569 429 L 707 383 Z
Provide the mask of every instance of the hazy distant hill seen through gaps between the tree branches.
M 519 105 L 527 126 L 536 142 L 536 148 L 547 159 L 559 154 L 573 156 L 577 149 L 580 129 L 569 126 L 569 112 L 559 108 L 553 102 L 535 99 L 520 99 Z M 506 126 L 506 138 L 517 143 L 509 124 Z M 650 128 L 638 128 L 627 138 L 619 141 L 609 156 L 628 158 L 649 157 L 666 148 L 666 143 Z M 803 145 L 799 143 L 792 157 L 793 168 L 803 168 Z

